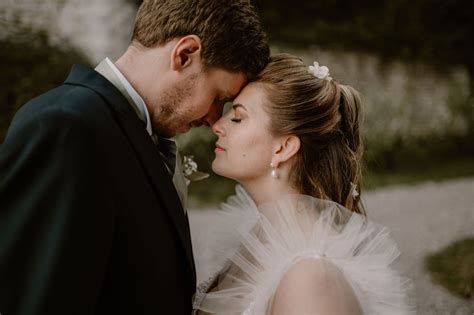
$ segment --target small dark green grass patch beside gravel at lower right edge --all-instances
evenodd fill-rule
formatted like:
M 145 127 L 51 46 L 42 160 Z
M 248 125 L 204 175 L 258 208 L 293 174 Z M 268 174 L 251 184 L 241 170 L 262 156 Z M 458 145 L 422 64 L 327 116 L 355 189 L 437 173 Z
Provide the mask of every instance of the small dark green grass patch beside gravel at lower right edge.
M 474 296 L 474 238 L 454 242 L 425 258 L 433 282 L 468 299 Z

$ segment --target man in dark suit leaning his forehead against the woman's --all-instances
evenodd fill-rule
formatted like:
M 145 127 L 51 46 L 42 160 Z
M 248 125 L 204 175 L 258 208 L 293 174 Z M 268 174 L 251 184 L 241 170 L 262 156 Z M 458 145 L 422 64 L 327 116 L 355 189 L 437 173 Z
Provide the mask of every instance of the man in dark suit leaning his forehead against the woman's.
M 24 105 L 0 148 L 0 313 L 190 313 L 166 138 L 212 125 L 268 57 L 247 0 L 145 0 L 115 64 Z

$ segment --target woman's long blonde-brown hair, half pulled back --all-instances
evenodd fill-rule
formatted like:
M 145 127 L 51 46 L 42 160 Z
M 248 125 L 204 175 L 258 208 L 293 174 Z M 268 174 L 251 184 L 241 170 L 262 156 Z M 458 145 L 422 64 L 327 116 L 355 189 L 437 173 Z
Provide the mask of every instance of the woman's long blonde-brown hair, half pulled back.
M 289 54 L 272 56 L 254 82 L 267 96 L 271 133 L 300 139 L 290 173 L 295 188 L 365 214 L 358 195 L 363 154 L 359 93 L 333 79 L 318 79 Z

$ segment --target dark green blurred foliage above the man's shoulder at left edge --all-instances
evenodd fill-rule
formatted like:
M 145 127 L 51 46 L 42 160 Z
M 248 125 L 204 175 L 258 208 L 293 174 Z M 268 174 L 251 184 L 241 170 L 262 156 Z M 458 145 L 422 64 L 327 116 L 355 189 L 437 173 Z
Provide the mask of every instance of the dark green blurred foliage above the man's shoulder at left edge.
M 44 31 L 20 28 L 0 39 L 0 143 L 15 112 L 64 82 L 74 63 L 87 59 L 67 44 L 53 45 Z

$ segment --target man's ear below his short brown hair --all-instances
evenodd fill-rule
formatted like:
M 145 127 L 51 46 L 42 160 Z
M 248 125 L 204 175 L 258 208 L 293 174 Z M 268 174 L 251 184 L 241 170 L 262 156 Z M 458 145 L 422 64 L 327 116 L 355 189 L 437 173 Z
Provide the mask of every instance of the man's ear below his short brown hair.
M 171 69 L 181 71 L 193 63 L 200 62 L 201 51 L 202 45 L 199 36 L 186 35 L 182 37 L 171 50 Z

